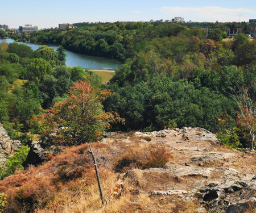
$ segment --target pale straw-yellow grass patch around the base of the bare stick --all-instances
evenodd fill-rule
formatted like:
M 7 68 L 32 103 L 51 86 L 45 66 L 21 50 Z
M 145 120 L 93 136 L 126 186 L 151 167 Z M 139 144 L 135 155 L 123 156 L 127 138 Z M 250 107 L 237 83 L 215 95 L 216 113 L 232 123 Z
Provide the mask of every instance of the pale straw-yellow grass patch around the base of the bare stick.
M 88 185 L 83 179 L 76 183 L 76 189 L 67 187 L 55 193 L 55 198 L 45 207 L 39 207 L 37 213 L 80 213 L 80 212 L 121 212 L 131 199 L 126 181 L 117 181 L 117 174 L 109 170 L 101 171 L 101 183 L 104 198 L 102 205 L 97 182 Z M 73 182 L 70 183 L 73 185 Z M 75 191 L 74 191 L 75 190 Z

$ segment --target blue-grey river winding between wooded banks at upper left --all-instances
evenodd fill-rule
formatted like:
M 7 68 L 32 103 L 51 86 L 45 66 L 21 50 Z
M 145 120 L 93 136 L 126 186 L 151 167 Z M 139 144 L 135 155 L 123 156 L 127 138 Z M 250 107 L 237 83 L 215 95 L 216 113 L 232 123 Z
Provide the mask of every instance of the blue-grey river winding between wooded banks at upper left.
M 5 40 L 7 44 L 12 43 L 13 39 L 0 39 L 0 43 L 2 40 Z M 23 43 L 23 42 L 18 42 Z M 32 44 L 32 43 L 23 43 L 31 47 L 34 51 L 38 49 L 41 44 Z M 53 49 L 58 48 L 56 45 L 47 44 L 48 47 L 52 47 Z M 78 53 L 74 53 L 71 51 L 66 51 L 66 66 L 81 66 L 86 69 L 104 69 L 104 70 L 115 70 L 121 66 L 121 62 L 116 59 L 109 59 L 105 57 L 96 57 L 96 56 L 86 56 Z

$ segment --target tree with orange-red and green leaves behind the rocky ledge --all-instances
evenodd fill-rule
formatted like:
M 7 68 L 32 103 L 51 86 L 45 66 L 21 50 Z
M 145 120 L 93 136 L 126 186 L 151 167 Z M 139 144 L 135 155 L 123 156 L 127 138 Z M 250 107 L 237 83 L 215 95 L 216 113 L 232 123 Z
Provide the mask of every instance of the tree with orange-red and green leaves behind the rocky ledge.
M 78 81 L 66 101 L 36 115 L 31 124 L 47 141 L 47 145 L 78 145 L 100 139 L 110 123 L 123 122 L 115 112 L 105 112 L 101 101 L 109 90 L 94 89 L 86 81 Z

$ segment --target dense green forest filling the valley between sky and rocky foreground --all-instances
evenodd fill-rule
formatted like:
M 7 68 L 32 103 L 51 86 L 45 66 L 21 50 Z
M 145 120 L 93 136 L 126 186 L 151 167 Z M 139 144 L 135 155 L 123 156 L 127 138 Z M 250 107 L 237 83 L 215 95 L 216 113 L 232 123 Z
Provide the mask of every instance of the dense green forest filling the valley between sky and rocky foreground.
M 250 29 L 242 24 L 245 31 Z M 227 28 L 234 31 L 240 26 L 168 22 L 77 26 L 11 35 L 58 44 L 57 51 L 46 45 L 32 51 L 24 44 L 1 43 L 0 122 L 11 137 L 25 145 L 34 133 L 46 136 L 56 126 L 68 126 L 64 133 L 73 136 L 66 145 L 74 145 L 99 139 L 110 124 L 111 131 L 197 126 L 218 133 L 230 147 L 254 149 L 256 40 L 244 34 L 224 39 Z M 205 27 L 211 27 L 208 35 Z M 110 83 L 102 85 L 97 74 L 64 66 L 64 48 L 113 57 L 123 65 Z M 80 81 L 85 79 L 89 85 Z M 76 108 L 85 103 L 81 94 L 94 100 L 92 105 L 86 102 L 90 107 Z M 74 108 L 79 113 L 67 115 Z M 85 131 L 90 135 L 81 136 Z

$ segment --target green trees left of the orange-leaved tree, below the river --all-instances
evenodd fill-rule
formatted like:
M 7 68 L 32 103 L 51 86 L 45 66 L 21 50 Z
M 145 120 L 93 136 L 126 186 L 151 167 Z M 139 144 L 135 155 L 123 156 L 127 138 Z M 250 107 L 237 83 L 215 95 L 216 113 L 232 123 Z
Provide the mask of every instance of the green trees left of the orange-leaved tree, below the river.
M 27 136 L 23 133 L 30 129 L 29 120 L 40 113 L 40 108 L 67 97 L 72 84 L 88 75 L 93 86 L 101 84 L 100 77 L 89 70 L 61 65 L 65 61 L 63 47 L 56 52 L 43 45 L 32 51 L 27 45 L 7 45 L 5 41 L 0 47 L 0 122 L 13 139 L 25 144 Z

